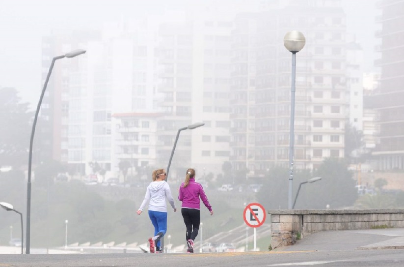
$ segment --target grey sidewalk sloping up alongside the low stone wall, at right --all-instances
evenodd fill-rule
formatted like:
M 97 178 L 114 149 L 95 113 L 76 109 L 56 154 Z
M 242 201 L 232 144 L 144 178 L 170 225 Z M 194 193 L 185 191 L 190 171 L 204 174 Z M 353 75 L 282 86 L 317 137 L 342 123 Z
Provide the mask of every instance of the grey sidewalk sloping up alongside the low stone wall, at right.
M 404 248 L 404 228 L 323 231 L 311 234 L 288 247 L 274 251 L 338 251 Z

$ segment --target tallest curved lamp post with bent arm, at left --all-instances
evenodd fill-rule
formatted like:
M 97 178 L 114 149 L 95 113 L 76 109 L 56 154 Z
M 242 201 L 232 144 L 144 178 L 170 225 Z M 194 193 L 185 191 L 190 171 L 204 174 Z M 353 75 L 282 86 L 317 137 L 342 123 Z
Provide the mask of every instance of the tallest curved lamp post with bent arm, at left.
M 41 108 L 42 99 L 44 98 L 45 90 L 49 82 L 49 78 L 51 77 L 52 69 L 54 68 L 54 62 L 57 59 L 63 58 L 74 58 L 81 54 L 84 54 L 86 51 L 79 49 L 72 51 L 70 53 L 54 57 L 52 59 L 51 66 L 49 67 L 48 75 L 46 76 L 44 88 L 42 89 L 41 96 L 39 97 L 38 106 L 36 107 L 34 121 L 32 123 L 32 130 L 31 130 L 31 138 L 29 140 L 29 155 L 28 155 L 28 181 L 27 181 L 27 244 L 26 244 L 26 253 L 29 254 L 29 245 L 30 245 L 30 227 L 31 227 L 31 167 L 32 167 L 32 146 L 34 141 L 34 134 L 35 134 L 35 126 L 36 121 L 38 120 L 39 110 Z

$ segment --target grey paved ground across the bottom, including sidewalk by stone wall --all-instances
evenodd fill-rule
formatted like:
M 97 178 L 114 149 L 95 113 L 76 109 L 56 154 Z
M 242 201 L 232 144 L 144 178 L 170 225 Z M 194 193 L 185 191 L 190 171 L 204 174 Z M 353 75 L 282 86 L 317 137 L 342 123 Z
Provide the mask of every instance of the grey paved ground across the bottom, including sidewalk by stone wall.
M 3 254 L 0 267 L 403 267 L 404 229 L 327 231 L 270 252 Z

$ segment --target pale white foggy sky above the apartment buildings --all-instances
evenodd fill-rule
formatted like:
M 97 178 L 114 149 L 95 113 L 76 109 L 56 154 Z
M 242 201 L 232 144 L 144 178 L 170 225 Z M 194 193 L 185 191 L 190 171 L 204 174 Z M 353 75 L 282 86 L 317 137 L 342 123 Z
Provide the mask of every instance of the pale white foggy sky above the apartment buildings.
M 207 2 L 208 0 L 205 0 Z M 232 0 L 248 3 L 246 0 Z M 289 0 L 283 0 L 287 2 Z M 12 0 L 0 1 L 0 86 L 14 87 L 33 109 L 41 84 L 42 36 L 52 30 L 100 30 L 103 23 L 134 18 L 149 10 L 170 6 L 187 8 L 197 0 Z M 212 1 L 226 11 L 228 0 Z M 347 31 L 355 34 L 365 55 L 364 71 L 373 70 L 375 59 L 376 0 L 342 0 Z M 241 10 L 243 11 L 243 10 Z M 372 29 L 375 28 L 375 29 Z M 293 30 L 293 29 L 291 29 Z

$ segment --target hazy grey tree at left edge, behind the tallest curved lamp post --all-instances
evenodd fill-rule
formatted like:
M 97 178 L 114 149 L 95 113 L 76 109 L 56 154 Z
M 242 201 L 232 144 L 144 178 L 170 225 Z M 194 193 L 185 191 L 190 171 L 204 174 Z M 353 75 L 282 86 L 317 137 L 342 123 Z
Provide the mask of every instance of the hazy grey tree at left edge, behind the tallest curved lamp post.
M 27 164 L 30 120 L 28 103 L 21 103 L 14 88 L 0 88 L 0 165 Z

